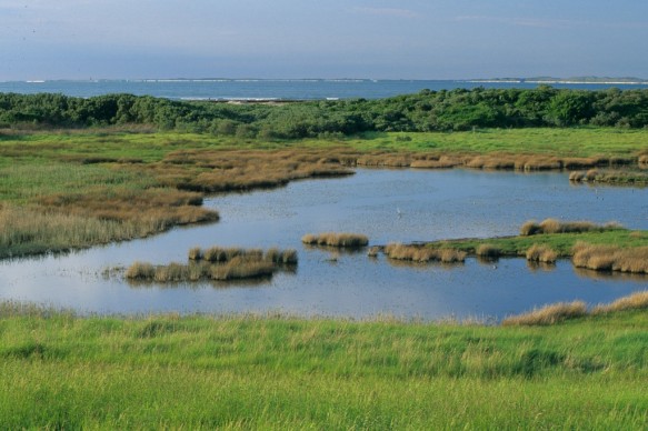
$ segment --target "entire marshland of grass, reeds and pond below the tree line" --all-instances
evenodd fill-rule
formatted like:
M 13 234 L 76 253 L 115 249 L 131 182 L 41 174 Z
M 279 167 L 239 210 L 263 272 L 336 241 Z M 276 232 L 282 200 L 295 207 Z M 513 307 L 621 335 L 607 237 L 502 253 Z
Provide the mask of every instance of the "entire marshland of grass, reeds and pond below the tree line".
M 2 130 L 2 428 L 645 425 L 645 129 L 240 109 Z

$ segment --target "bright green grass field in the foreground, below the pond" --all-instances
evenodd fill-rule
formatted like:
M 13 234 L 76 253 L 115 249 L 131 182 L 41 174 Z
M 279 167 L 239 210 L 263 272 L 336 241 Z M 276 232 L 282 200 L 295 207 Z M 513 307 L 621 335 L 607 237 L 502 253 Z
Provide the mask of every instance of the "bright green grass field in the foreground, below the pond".
M 0 307 L 2 429 L 648 424 L 645 310 L 482 327 Z

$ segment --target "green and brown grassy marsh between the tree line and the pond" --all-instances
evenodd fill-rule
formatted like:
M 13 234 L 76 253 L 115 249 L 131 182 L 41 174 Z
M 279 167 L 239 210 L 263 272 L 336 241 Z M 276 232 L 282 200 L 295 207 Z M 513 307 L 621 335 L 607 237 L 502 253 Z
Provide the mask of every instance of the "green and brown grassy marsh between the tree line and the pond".
M 0 259 L 213 222 L 205 193 L 350 174 L 355 166 L 556 169 L 631 164 L 648 132 L 618 129 L 370 133 L 261 141 L 136 129 L 0 131 Z

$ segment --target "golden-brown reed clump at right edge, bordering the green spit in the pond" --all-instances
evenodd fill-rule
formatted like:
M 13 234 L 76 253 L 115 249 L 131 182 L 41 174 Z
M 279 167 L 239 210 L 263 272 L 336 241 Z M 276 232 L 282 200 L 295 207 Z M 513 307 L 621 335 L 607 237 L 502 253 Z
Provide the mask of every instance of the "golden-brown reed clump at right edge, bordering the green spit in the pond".
M 577 268 L 648 273 L 648 247 L 620 248 L 579 242 L 574 247 L 572 252 L 571 261 Z

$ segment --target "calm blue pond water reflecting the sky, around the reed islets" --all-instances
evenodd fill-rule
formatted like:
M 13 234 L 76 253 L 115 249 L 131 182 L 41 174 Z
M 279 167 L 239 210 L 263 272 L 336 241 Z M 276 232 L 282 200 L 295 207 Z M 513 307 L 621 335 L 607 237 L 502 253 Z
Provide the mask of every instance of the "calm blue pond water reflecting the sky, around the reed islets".
M 305 249 L 305 233 L 353 231 L 372 244 L 514 234 L 529 219 L 616 220 L 648 229 L 648 189 L 574 187 L 565 174 L 468 170 L 358 170 L 343 179 L 297 181 L 273 191 L 215 197 L 219 223 L 146 240 L 0 262 L 0 298 L 90 312 L 265 312 L 313 315 L 505 315 L 557 301 L 608 302 L 648 287 L 646 277 L 492 264 L 398 265 L 383 257 Z M 106 268 L 185 262 L 191 247 L 279 245 L 299 251 L 296 273 L 251 285 L 130 287 Z

